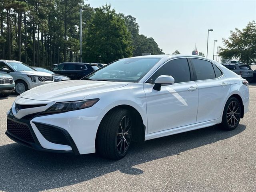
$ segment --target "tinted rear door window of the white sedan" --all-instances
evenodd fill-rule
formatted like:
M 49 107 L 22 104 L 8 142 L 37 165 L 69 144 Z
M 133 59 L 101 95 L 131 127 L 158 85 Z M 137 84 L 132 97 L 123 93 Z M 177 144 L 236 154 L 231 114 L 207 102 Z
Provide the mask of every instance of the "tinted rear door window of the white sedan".
M 212 67 L 212 63 L 202 59 L 192 58 L 194 68 L 196 70 L 197 80 L 214 79 L 215 73 Z

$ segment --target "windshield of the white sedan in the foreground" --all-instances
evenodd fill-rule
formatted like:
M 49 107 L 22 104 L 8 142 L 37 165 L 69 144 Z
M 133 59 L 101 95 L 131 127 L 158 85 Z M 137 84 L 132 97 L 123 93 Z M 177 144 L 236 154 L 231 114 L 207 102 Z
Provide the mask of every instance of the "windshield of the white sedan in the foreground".
M 138 82 L 159 60 L 160 58 L 126 58 L 108 64 L 86 78 L 99 81 Z

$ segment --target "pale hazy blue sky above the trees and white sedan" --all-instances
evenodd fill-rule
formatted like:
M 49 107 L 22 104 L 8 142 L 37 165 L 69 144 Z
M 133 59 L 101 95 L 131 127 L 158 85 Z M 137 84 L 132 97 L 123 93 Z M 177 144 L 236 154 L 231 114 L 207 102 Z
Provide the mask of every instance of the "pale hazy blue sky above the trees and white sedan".
M 86 4 L 100 7 L 111 4 L 116 12 L 131 15 L 140 26 L 140 34 L 153 37 L 165 54 L 179 50 L 191 54 L 195 49 L 213 58 L 217 46 L 223 47 L 230 30 L 242 30 L 256 20 L 256 0 L 87 0 Z M 216 56 L 215 56 L 216 60 Z

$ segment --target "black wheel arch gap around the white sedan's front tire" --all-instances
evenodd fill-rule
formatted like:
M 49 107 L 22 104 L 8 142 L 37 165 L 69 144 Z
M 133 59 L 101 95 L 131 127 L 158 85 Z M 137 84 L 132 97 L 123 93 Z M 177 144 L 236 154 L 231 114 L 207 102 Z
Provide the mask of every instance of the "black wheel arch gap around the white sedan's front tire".
M 127 105 L 127 104 L 122 104 L 122 105 L 115 106 L 115 107 L 111 108 L 103 116 L 102 120 L 109 113 L 111 113 L 113 110 L 116 110 L 118 108 L 120 108 L 120 109 L 127 109 L 127 110 L 129 110 L 131 112 L 132 118 L 135 120 L 135 126 L 133 127 L 133 133 L 135 133 L 135 134 L 133 134 L 133 136 L 132 136 L 132 141 L 143 143 L 145 141 L 146 126 L 144 125 L 144 122 L 143 122 L 141 114 L 138 112 L 138 110 L 136 110 L 136 108 L 134 108 L 134 107 L 132 107 L 130 105 Z M 102 120 L 101 120 L 101 122 L 102 122 Z M 99 131 L 99 128 L 98 128 L 97 133 L 96 133 L 95 147 L 97 146 L 96 142 L 97 142 L 97 137 L 98 137 L 98 131 Z

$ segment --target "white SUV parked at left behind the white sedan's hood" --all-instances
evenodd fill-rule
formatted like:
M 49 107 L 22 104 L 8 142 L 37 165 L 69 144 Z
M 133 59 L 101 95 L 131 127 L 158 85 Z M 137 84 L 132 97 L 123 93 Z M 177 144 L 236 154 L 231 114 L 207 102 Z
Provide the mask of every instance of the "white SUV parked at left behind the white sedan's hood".
M 13 77 L 16 94 L 22 94 L 36 86 L 54 82 L 51 74 L 36 71 L 20 61 L 0 60 L 0 72 L 8 73 Z

